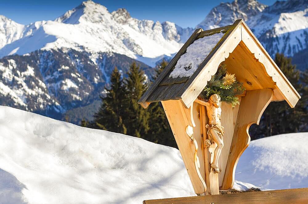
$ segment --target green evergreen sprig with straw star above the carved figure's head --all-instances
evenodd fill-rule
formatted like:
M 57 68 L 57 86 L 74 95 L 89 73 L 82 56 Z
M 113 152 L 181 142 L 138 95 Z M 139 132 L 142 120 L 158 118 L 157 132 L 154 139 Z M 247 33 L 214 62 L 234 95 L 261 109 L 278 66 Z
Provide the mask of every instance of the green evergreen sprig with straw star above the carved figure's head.
M 231 80 L 229 81 L 228 78 Z M 216 74 L 208 81 L 206 87 L 200 93 L 199 97 L 203 100 L 209 100 L 212 94 L 218 94 L 221 101 L 232 104 L 232 107 L 239 104 L 238 95 L 245 91 L 245 87 L 241 82 L 235 80 L 234 75 L 227 72 L 226 64 L 222 63 Z

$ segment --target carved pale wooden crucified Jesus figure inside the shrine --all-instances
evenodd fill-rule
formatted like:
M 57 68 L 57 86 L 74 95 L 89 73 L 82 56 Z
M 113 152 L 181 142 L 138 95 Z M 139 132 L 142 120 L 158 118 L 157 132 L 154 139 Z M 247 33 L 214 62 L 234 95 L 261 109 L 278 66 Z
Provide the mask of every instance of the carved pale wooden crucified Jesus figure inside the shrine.
M 214 173 L 219 173 L 218 159 L 221 153 L 221 149 L 224 146 L 223 136 L 224 127 L 221 126 L 221 108 L 220 108 L 220 96 L 213 94 L 210 96 L 209 101 L 205 103 L 206 111 L 209 117 L 209 124 L 205 127 L 208 129 L 208 139 L 205 141 L 205 147 L 209 147 L 213 144 L 213 141 L 217 144 L 214 151 L 214 158 L 211 164 Z

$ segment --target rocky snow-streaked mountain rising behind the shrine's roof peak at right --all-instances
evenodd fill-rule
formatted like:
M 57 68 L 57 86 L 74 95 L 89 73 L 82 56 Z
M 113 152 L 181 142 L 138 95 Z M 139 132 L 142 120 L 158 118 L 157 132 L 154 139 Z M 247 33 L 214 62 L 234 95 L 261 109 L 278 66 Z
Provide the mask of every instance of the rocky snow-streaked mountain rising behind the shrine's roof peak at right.
M 308 0 L 277 1 L 271 6 L 255 0 L 221 3 L 197 27 L 212 29 L 232 24 L 238 18 L 245 20 L 272 57 L 276 53 L 293 57 L 307 50 Z M 308 62 L 301 63 L 299 68 L 306 69 L 307 65 Z

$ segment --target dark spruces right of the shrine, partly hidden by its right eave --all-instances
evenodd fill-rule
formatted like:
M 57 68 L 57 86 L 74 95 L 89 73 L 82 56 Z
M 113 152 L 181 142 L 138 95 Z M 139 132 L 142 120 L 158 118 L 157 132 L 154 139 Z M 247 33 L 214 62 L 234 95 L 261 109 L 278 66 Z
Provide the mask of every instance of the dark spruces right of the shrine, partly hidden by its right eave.
M 300 72 L 295 65 L 292 65 L 291 59 L 286 58 L 283 54 L 276 54 L 275 63 L 301 94 L 305 87 L 300 82 Z M 265 109 L 259 126 L 253 125 L 249 129 L 251 139 L 302 131 L 304 124 L 307 124 L 306 107 L 305 96 L 298 101 L 295 108 L 290 108 L 286 101 L 271 102 Z

